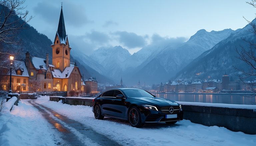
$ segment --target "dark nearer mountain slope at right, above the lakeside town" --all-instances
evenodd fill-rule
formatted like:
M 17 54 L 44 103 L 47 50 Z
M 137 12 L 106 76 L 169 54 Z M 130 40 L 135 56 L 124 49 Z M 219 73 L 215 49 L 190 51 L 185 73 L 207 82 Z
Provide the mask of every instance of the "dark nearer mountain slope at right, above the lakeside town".
M 255 22 L 256 20 L 253 20 L 253 23 Z M 235 49 L 241 49 L 240 46 L 244 48 L 249 47 L 248 43 L 243 39 L 252 42 L 256 41 L 255 35 L 249 32 L 249 29 L 251 29 L 251 26 L 247 25 L 243 29 L 236 30 L 228 38 L 222 40 L 212 49 L 193 60 L 183 70 L 177 73 L 175 78 L 188 80 L 221 78 L 225 71 L 236 77 L 239 72 L 234 67 L 246 70 L 247 66 L 244 62 L 236 58 L 238 54 Z

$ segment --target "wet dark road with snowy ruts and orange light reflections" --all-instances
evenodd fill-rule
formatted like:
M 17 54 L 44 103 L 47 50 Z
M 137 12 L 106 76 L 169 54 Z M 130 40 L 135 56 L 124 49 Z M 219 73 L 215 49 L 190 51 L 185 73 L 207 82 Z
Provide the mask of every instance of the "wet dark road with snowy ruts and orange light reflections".
M 62 135 L 62 142 L 58 145 L 64 146 L 119 146 L 117 142 L 109 139 L 105 135 L 95 132 L 90 127 L 87 127 L 75 120 L 61 115 L 51 108 L 35 103 L 35 100 L 30 100 L 35 108 L 42 113 L 43 117 Z

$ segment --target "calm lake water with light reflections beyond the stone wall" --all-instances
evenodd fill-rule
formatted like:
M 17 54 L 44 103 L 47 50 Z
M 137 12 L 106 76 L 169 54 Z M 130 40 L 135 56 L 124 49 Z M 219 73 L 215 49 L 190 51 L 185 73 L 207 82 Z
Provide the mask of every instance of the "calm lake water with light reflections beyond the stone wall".
M 226 103 L 226 104 L 247 104 L 255 105 L 256 96 L 248 97 L 249 94 L 187 94 L 187 93 L 153 93 L 157 97 L 185 102 L 204 103 Z

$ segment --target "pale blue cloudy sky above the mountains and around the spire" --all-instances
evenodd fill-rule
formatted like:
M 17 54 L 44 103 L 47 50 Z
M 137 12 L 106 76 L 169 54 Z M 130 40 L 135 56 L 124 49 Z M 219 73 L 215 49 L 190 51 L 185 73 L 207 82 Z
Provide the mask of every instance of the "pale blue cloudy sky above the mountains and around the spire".
M 245 1 L 26 0 L 24 5 L 34 16 L 29 24 L 53 40 L 63 2 L 71 47 L 90 55 L 101 46 L 120 45 L 133 54 L 152 43 L 184 42 L 200 29 L 243 28 L 243 16 L 253 20 L 256 12 Z

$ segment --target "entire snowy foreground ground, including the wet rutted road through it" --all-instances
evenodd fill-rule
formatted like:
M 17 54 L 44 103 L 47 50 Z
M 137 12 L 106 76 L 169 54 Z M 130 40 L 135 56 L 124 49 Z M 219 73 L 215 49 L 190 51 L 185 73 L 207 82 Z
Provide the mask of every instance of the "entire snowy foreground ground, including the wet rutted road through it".
M 256 135 L 232 132 L 224 127 L 208 127 L 189 120 L 175 125 L 145 124 L 142 128 L 134 128 L 124 120 L 106 117 L 96 120 L 91 107 L 49 101 L 49 96 L 22 100 L 9 114 L 0 116 L 1 146 L 118 144 L 255 146 Z

